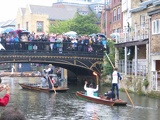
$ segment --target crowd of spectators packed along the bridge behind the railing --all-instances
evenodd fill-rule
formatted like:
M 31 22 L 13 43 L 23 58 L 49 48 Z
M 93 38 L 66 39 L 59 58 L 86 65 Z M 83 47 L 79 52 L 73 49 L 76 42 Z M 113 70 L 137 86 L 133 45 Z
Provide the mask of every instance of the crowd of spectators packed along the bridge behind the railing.
M 100 52 L 107 48 L 106 38 L 100 35 L 68 36 L 53 33 L 38 35 L 17 30 L 0 34 L 0 41 L 5 50 Z

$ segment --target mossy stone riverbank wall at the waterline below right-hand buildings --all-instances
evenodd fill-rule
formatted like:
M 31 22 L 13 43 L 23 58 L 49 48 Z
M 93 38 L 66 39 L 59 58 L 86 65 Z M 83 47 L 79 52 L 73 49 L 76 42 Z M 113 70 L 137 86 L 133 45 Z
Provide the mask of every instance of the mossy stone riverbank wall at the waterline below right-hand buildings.
M 139 95 L 146 95 L 150 97 L 160 97 L 160 91 L 151 90 L 151 83 L 144 79 L 143 76 L 133 76 L 133 75 L 122 75 L 122 86 L 121 82 L 119 83 L 119 88 L 121 90 L 127 89 L 128 92 L 132 92 Z M 110 75 L 101 78 L 101 84 L 106 84 L 111 86 L 112 78 Z

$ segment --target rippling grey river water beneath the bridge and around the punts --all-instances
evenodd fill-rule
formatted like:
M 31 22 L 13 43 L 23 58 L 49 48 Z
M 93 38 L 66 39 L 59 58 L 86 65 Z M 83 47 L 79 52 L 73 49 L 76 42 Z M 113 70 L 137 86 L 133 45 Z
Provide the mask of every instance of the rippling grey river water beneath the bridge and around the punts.
M 35 82 L 39 78 L 3 77 L 2 83 L 11 86 L 11 99 L 6 107 L 17 107 L 27 120 L 159 120 L 160 100 L 130 94 L 135 105 L 132 107 L 126 93 L 120 98 L 127 101 L 125 107 L 110 107 L 77 99 L 75 92 L 82 91 L 82 85 L 70 85 L 65 93 L 44 93 L 23 90 L 18 83 Z M 99 94 L 109 88 L 100 86 Z M 5 91 L 0 93 L 1 97 Z M 5 108 L 0 107 L 0 112 Z

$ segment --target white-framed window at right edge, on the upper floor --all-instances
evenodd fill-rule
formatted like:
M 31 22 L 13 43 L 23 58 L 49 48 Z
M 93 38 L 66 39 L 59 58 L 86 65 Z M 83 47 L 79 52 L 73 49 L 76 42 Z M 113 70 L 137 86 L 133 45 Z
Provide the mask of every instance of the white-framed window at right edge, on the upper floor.
M 160 19 L 152 21 L 152 34 L 160 33 Z

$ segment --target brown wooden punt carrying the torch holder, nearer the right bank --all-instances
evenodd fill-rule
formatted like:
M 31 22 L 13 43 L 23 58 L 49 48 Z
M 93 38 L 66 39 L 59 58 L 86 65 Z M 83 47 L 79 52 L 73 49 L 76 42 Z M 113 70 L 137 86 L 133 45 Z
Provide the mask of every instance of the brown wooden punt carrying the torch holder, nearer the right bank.
M 108 106 L 126 106 L 126 104 L 127 104 L 127 102 L 125 102 L 123 100 L 111 101 L 109 99 L 106 99 L 105 96 L 89 97 L 89 96 L 86 96 L 84 94 L 84 92 L 79 92 L 79 91 L 76 92 L 76 96 L 80 99 L 83 99 L 83 100 L 87 100 L 87 101 L 90 101 L 90 102 L 95 102 L 95 103 L 98 103 L 98 104 L 104 104 L 104 105 L 108 105 Z

